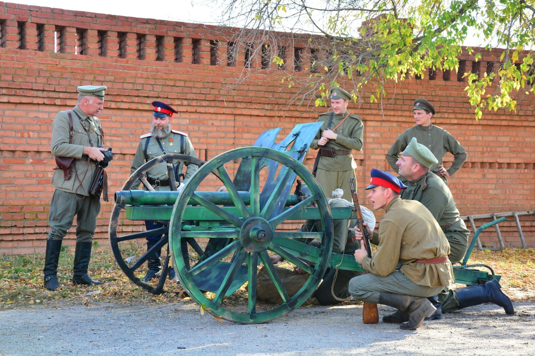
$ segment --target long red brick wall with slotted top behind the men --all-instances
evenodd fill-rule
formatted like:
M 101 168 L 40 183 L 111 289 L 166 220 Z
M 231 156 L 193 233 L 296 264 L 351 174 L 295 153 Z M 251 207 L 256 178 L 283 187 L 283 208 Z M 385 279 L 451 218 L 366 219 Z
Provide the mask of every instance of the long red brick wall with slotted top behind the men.
M 18 22 L 25 23 L 25 49 L 19 49 Z M 59 110 L 75 105 L 78 85 L 109 88 L 99 117 L 106 147 L 121 152 L 107 169 L 111 192 L 128 178 L 139 136 L 150 129 L 152 100 L 171 102 L 179 110 L 174 128 L 189 133 L 201 159 L 250 145 L 260 132 L 278 126 L 283 128 L 281 137 L 286 136 L 295 124 L 315 121 L 318 112 L 326 111 L 307 109 L 314 102 L 312 97 L 300 107 L 288 106 L 296 90 L 280 84 L 277 69 L 261 69 L 259 58 L 251 61 L 251 75 L 228 89 L 225 81 L 241 74 L 243 56 L 236 58 L 237 66 L 229 67 L 222 46 L 216 56 L 222 63 L 211 65 L 210 41 L 225 43 L 225 39 L 224 34 L 216 36 L 204 26 L 3 2 L 0 23 L 4 33 L 0 47 L 0 252 L 7 254 L 41 251 L 45 244 L 55 167 L 50 153 L 52 121 Z M 62 45 L 55 53 L 53 31 L 60 27 Z M 76 33 L 81 30 L 86 36 L 83 54 L 74 54 Z M 98 55 L 100 32 L 105 33 L 105 56 Z M 118 33 L 125 34 L 122 58 L 118 57 Z M 156 60 L 157 36 L 163 36 L 161 61 Z M 139 54 L 138 37 L 143 42 Z M 182 41 L 178 62 L 175 38 Z M 193 43 L 198 45 L 196 50 Z M 499 58 L 499 53 L 485 53 L 480 68 Z M 303 58 L 307 58 L 306 51 Z M 291 59 L 287 66 L 293 66 Z M 473 58 L 466 54 L 461 59 L 470 69 Z M 363 116 L 365 123 L 364 151 L 355 155 L 360 166 L 360 195 L 364 195 L 362 187 L 371 168 L 389 169 L 385 153 L 396 136 L 414 124 L 412 101 L 425 97 L 437 108 L 434 123 L 452 133 L 469 154 L 450 180 L 461 215 L 533 209 L 535 123 L 531 98 L 520 98 L 516 113 L 500 110 L 476 122 L 463 91 L 466 83 L 457 81 L 456 73 L 449 77 L 444 81 L 442 73 L 437 73 L 434 80 L 393 84 L 382 109 L 365 99 L 351 104 L 351 112 Z M 310 166 L 314 156 L 307 160 Z M 445 157 L 446 166 L 449 161 L 450 155 Z M 106 243 L 111 207 L 111 201 L 103 202 L 98 216 L 95 238 L 101 239 L 101 244 Z M 526 242 L 532 247 L 533 220 L 522 218 Z M 500 226 L 506 246 L 519 246 L 514 221 L 509 218 Z M 73 232 L 74 228 L 66 244 L 74 244 Z M 498 246 L 493 233 L 483 234 L 482 240 L 486 246 Z

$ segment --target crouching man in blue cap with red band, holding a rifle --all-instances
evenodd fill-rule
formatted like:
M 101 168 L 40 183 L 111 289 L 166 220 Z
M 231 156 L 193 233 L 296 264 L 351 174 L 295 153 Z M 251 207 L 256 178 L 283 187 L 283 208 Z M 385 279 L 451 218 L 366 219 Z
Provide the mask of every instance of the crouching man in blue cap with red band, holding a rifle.
M 370 273 L 351 279 L 349 292 L 355 299 L 398 309 L 406 315 L 400 329 L 412 330 L 437 310 L 427 297 L 449 286 L 453 268 L 446 236 L 422 203 L 401 199 L 406 188 L 390 173 L 372 169 L 368 198 L 373 209 L 386 213 L 378 232 L 368 227 L 371 242 L 378 245 L 375 256 L 368 257 L 362 233 L 355 234 L 361 242 L 355 260 Z

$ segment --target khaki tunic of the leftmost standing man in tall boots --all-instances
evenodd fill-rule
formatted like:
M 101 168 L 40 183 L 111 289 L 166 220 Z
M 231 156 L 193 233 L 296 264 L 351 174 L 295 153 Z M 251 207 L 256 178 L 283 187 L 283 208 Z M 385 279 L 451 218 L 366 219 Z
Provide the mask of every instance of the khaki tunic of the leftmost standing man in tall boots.
M 80 115 L 86 128 L 89 129 L 88 132 L 91 140 L 93 140 L 93 147 L 102 147 L 103 138 L 100 132 L 102 125 L 98 117 L 87 117 L 78 105 L 73 110 Z M 60 191 L 89 195 L 89 185 L 97 168 L 97 163 L 87 158 L 81 160 L 83 147 L 90 147 L 91 144 L 78 116 L 74 113 L 71 115 L 73 123 L 72 143 L 68 143 L 71 131 L 68 114 L 66 111 L 60 111 L 52 123 L 50 151 L 56 157 L 74 157 L 76 159 L 75 166 L 71 171 L 71 178 L 68 180 L 64 179 L 63 170 L 56 170 L 52 177 L 52 184 Z

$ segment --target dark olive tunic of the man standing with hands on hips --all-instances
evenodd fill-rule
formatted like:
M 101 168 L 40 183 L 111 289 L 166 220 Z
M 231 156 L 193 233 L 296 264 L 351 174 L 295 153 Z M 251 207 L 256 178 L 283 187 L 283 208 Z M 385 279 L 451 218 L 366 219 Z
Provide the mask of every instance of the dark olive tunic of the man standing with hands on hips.
M 441 163 L 446 152 L 453 154 L 453 163 L 447 170 L 450 176 L 453 176 L 467 159 L 468 154 L 464 147 L 448 131 L 433 124 L 426 127 L 415 125 L 396 138 L 386 154 L 386 160 L 395 172 L 398 172 L 396 162 L 399 154 L 407 148 L 413 137 L 416 137 L 416 141 L 419 144 L 429 148 L 433 155 L 437 157 L 439 163 Z M 432 172 L 437 172 L 439 163 L 431 166 Z

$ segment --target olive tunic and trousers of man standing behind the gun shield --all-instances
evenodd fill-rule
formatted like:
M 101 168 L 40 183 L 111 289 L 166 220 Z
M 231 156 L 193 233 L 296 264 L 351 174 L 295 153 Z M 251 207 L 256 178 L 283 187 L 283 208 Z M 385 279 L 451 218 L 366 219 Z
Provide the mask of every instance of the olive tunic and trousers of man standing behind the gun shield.
M 347 115 L 334 115 L 331 123 L 331 130 L 333 130 Z M 310 148 L 318 149 L 318 140 L 322 138 L 323 131 L 327 129 L 327 124 L 331 113 L 324 113 L 319 115 L 318 121 L 323 121 L 322 127 L 312 143 Z M 325 146 L 333 147 L 334 149 L 343 149 L 345 151 L 362 150 L 363 146 L 363 130 L 364 124 L 362 117 L 350 114 L 334 133 L 338 135 L 336 140 L 329 140 Z M 319 154 L 319 151 L 318 151 Z M 343 199 L 351 200 L 351 192 L 349 190 L 349 178 L 355 178 L 355 168 L 357 164 L 353 159 L 353 154 L 340 155 L 334 157 L 320 156 L 318 162 L 318 170 L 316 173 L 316 180 L 326 196 L 331 196 L 336 188 L 343 189 Z

